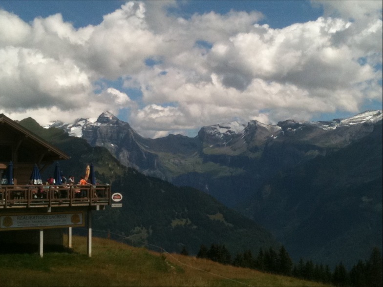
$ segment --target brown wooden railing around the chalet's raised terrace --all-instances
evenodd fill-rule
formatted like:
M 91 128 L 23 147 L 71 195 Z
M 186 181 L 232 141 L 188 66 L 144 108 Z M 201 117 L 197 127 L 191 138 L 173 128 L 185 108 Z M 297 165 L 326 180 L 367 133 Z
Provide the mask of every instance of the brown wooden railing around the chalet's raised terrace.
M 0 208 L 110 205 L 110 185 L 0 185 Z

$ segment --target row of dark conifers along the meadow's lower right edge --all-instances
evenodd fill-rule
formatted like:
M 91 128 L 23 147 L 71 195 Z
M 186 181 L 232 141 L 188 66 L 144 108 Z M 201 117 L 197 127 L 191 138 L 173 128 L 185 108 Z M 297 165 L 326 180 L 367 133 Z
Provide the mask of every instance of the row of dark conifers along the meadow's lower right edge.
M 185 246 L 182 248 L 181 254 L 188 255 Z M 334 271 L 331 271 L 328 265 L 314 264 L 312 260 L 305 262 L 300 259 L 298 264 L 294 264 L 284 246 L 281 246 L 277 251 L 273 247 L 265 250 L 260 248 L 256 256 L 252 254 L 251 250 L 245 250 L 237 253 L 233 258 L 225 245 L 212 244 L 210 248 L 201 245 L 197 258 L 310 281 L 330 283 L 335 286 L 383 286 L 383 259 L 378 247 L 373 248 L 368 260 L 359 260 L 350 271 L 347 271 L 341 262 L 335 266 Z

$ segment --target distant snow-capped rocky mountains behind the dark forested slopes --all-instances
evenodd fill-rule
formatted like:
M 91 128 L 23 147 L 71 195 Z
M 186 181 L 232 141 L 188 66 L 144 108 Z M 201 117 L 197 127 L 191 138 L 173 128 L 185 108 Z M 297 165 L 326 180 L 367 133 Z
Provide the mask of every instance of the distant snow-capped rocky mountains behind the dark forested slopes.
M 91 146 L 106 147 L 123 165 L 195 187 L 234 207 L 277 172 L 331 154 L 370 134 L 379 121 L 381 110 L 327 122 L 221 123 L 202 127 L 194 138 L 148 139 L 104 112 L 98 118 L 55 122 L 46 128 L 62 128 Z

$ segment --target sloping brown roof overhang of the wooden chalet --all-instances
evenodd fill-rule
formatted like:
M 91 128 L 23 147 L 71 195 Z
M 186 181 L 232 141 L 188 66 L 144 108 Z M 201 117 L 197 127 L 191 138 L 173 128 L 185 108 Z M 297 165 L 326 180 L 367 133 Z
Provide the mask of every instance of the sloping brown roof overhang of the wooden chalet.
M 16 148 L 27 145 L 40 154 L 41 162 L 67 160 L 70 158 L 63 151 L 46 142 L 21 124 L 6 117 L 4 114 L 0 114 L 0 129 L 9 134 L 9 137 L 1 137 L 0 144 L 16 144 Z

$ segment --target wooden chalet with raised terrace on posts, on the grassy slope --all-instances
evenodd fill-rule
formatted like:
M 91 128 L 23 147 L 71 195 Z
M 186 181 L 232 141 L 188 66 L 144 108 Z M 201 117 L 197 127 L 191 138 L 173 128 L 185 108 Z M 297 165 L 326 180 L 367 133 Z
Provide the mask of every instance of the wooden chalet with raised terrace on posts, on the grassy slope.
M 0 245 L 72 245 L 72 227 L 87 226 L 91 256 L 91 212 L 112 205 L 110 185 L 29 184 L 35 165 L 42 172 L 69 156 L 19 123 L 0 114 L 0 176 L 13 164 L 13 184 L 0 184 Z M 79 191 L 85 196 L 78 197 Z M 43 192 L 43 196 L 37 196 Z M 121 205 L 121 204 L 119 204 Z M 66 232 L 67 231 L 67 232 Z

